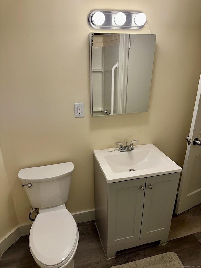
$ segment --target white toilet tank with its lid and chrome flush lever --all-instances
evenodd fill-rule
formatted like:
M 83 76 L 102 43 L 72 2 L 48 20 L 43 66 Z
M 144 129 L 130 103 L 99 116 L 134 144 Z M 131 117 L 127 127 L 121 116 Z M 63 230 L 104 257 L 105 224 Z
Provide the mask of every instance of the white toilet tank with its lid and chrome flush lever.
M 21 169 L 18 178 L 24 187 L 31 205 L 34 208 L 48 208 L 65 203 L 68 200 L 71 173 L 74 165 L 71 162 Z

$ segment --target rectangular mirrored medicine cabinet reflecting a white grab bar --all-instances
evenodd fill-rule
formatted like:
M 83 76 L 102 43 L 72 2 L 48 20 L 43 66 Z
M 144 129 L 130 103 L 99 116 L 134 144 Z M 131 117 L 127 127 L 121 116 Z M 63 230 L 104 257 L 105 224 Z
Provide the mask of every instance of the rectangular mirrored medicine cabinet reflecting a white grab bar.
M 156 35 L 90 33 L 93 116 L 147 112 Z

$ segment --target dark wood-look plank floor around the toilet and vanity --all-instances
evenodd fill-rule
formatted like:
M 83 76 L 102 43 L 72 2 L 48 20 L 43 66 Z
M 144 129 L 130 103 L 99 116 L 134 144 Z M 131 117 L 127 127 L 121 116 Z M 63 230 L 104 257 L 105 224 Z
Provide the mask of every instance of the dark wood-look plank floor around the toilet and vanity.
M 173 239 L 166 245 L 155 245 L 144 249 L 136 248 L 131 252 L 122 251 L 120 255 L 111 260 L 105 258 L 94 221 L 79 223 L 79 243 L 74 257 L 75 268 L 110 268 L 168 251 L 175 252 L 184 266 L 201 266 L 201 244 L 198 241 L 201 233 L 196 232 L 193 235 L 194 230 L 197 231 L 197 227 L 201 226 L 201 221 L 195 221 L 197 216 L 201 216 L 201 204 L 182 214 L 173 216 L 170 232 L 170 238 Z M 189 228 L 186 224 L 188 219 L 191 219 Z M 195 222 L 194 227 L 192 222 Z M 174 236 L 177 236 L 177 228 L 180 235 L 184 236 L 174 239 Z M 186 235 L 189 232 L 186 230 L 189 229 L 192 234 Z M 23 236 L 6 250 L 2 255 L 0 268 L 38 268 L 39 266 L 30 253 L 28 240 L 29 236 Z

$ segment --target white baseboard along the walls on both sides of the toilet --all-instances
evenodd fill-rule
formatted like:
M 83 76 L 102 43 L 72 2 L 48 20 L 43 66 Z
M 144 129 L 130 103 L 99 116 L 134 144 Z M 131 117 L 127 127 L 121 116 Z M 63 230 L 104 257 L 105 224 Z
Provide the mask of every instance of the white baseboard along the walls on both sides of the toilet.
M 95 210 L 86 210 L 76 213 L 72 213 L 76 223 L 89 222 L 95 219 Z M 30 233 L 32 224 L 26 224 L 14 228 L 0 241 L 0 260 L 1 254 L 5 252 L 13 243 L 15 243 L 21 236 L 28 235 Z

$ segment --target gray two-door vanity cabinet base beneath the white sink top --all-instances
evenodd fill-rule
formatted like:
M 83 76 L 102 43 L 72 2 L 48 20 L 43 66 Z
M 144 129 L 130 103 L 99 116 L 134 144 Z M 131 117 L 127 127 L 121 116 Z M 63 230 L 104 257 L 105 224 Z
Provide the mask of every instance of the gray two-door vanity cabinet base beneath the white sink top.
M 106 258 L 168 239 L 180 172 L 107 183 L 97 161 L 95 224 Z

